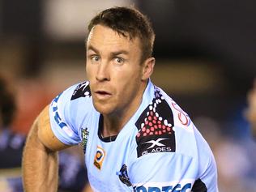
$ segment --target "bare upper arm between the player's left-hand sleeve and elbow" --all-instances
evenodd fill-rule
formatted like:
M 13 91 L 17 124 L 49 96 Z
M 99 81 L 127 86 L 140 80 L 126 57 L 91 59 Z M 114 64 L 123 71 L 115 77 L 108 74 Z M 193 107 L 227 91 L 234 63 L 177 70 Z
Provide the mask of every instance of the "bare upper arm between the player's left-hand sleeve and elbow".
M 48 147 L 52 151 L 59 151 L 69 147 L 53 134 L 49 120 L 49 105 L 46 106 L 36 118 L 36 123 L 38 126 L 38 139 L 45 145 L 45 147 Z

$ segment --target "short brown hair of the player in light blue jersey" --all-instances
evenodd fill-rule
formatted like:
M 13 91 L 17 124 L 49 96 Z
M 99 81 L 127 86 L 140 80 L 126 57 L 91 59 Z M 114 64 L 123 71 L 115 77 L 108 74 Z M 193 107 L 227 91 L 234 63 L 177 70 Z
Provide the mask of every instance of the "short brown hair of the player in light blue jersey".
M 147 16 L 138 10 L 126 6 L 115 6 L 101 11 L 89 23 L 88 31 L 91 32 L 97 24 L 111 28 L 125 37 L 128 33 L 130 40 L 138 36 L 142 43 L 142 61 L 151 57 L 155 32 Z

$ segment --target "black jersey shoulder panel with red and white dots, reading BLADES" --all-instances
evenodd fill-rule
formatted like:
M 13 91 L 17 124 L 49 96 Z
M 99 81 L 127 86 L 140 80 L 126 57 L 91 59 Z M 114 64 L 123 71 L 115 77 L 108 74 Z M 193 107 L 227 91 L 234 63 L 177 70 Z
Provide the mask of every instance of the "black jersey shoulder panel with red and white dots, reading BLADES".
M 160 90 L 155 87 L 155 97 L 135 123 L 137 156 L 176 150 L 173 130 L 173 112 Z

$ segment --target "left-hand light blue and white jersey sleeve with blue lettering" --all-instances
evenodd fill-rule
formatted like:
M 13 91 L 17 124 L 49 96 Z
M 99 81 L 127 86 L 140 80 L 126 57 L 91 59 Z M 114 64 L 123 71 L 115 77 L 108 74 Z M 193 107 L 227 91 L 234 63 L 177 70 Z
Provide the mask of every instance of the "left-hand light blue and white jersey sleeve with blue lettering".
M 56 96 L 49 106 L 50 125 L 55 136 L 66 145 L 80 142 L 78 130 L 71 121 L 71 96 L 75 92 L 74 85 Z

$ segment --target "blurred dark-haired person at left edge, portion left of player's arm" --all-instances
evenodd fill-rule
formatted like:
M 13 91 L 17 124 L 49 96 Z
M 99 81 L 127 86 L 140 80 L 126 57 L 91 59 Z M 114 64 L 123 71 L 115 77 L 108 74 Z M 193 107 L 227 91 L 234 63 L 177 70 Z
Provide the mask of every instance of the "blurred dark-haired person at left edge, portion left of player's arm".
M 22 190 L 21 158 L 25 135 L 11 130 L 16 105 L 14 87 L 0 75 L 0 191 Z

